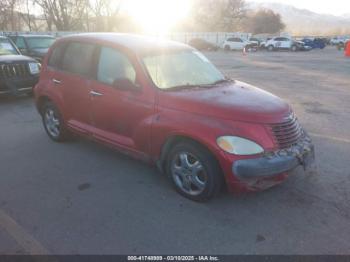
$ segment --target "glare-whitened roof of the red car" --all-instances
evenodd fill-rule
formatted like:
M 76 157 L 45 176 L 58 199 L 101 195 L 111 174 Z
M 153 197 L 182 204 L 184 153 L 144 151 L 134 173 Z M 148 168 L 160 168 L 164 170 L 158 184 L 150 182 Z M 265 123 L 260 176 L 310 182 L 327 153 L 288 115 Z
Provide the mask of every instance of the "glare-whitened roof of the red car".
M 121 47 L 131 50 L 136 54 L 147 54 L 159 50 L 193 50 L 192 47 L 175 41 L 124 33 L 86 33 L 66 36 L 61 39 L 63 41 L 74 41 L 79 39 L 85 39 L 93 42 L 102 41 L 110 44 L 119 45 Z

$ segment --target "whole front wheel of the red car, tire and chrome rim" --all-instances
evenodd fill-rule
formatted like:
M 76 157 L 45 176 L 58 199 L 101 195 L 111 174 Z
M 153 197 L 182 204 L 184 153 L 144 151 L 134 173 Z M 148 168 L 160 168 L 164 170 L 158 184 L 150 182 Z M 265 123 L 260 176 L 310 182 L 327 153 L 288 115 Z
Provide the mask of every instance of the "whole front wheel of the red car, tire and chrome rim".
M 192 141 L 179 142 L 170 150 L 165 170 L 175 190 L 197 202 L 212 199 L 223 184 L 221 168 L 214 156 Z

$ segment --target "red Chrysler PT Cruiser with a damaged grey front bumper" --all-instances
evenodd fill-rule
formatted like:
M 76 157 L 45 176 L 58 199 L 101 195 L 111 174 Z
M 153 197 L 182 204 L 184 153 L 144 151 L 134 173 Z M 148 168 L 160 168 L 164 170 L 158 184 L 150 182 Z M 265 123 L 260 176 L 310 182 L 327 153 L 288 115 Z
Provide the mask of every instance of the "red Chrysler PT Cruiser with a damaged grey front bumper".
M 53 141 L 79 134 L 157 164 L 195 201 L 224 183 L 233 192 L 271 187 L 314 155 L 286 102 L 225 78 L 181 43 L 125 34 L 62 38 L 45 58 L 35 98 Z

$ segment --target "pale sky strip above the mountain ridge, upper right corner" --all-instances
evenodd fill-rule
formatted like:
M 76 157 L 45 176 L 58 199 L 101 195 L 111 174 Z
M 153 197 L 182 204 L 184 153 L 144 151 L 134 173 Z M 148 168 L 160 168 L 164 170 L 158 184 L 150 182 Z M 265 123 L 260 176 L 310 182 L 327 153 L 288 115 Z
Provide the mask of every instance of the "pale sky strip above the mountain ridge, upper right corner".
M 251 2 L 275 2 L 287 4 L 321 14 L 338 16 L 350 14 L 350 0 L 253 0 Z

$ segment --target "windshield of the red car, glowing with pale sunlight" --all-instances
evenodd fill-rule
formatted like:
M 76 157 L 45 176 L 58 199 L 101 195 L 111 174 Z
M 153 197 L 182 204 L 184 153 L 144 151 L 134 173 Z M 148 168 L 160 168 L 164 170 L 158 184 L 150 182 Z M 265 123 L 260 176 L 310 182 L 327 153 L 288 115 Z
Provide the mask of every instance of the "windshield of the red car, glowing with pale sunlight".
M 200 52 L 185 50 L 143 58 L 155 85 L 160 89 L 208 86 L 225 77 Z

